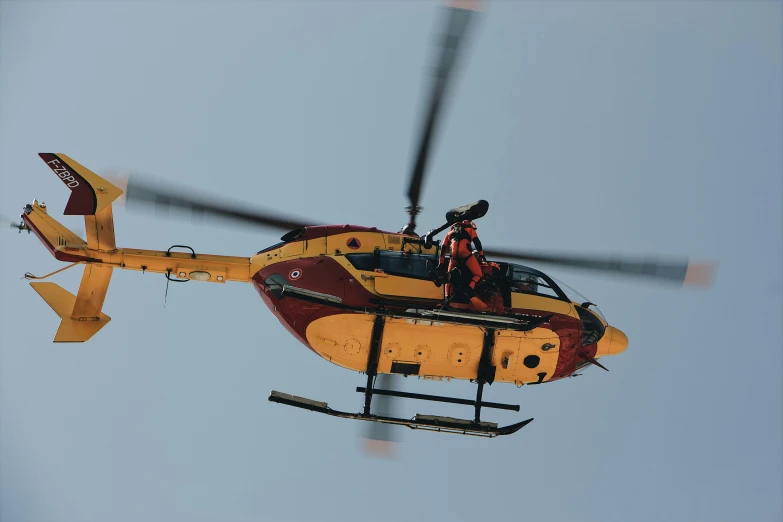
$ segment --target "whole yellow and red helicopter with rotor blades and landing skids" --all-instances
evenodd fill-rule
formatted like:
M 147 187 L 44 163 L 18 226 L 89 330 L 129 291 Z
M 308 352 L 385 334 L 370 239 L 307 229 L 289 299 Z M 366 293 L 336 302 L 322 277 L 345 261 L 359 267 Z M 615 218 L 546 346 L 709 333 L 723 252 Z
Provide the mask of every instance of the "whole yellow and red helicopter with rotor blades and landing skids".
M 62 153 L 39 157 L 71 191 L 64 215 L 83 216 L 84 239 L 49 215 L 33 200 L 13 227 L 35 234 L 58 261 L 68 266 L 43 277 L 27 273 L 32 288 L 60 318 L 54 342 L 86 342 L 111 318 L 103 305 L 115 269 L 162 274 L 169 282 L 249 283 L 281 325 L 326 361 L 366 375 L 356 391 L 364 396 L 360 412 L 273 390 L 268 400 L 326 415 L 406 426 L 411 429 L 497 437 L 518 432 L 533 419 L 508 426 L 482 420 L 484 408 L 519 411 L 519 405 L 483 400 L 485 385 L 540 385 L 575 375 L 600 359 L 621 354 L 628 338 L 610 325 L 600 309 L 547 273 L 528 266 L 541 263 L 644 277 L 680 285 L 707 285 L 709 264 L 662 262 L 610 256 L 528 253 L 483 248 L 483 276 L 474 296 L 483 309 L 471 307 L 464 292 L 467 272 L 459 266 L 444 272 L 443 249 L 435 236 L 489 210 L 477 200 L 448 210 L 444 222 L 416 233 L 428 154 L 447 96 L 449 78 L 476 5 L 445 7 L 442 51 L 430 89 L 415 161 L 408 179 L 408 221 L 399 231 L 351 224 L 319 224 L 277 212 L 219 202 L 210 195 L 130 178 L 124 187 L 101 177 Z M 113 205 L 189 211 L 198 216 L 284 232 L 280 241 L 248 256 L 197 253 L 186 245 L 166 251 L 118 248 Z M 445 256 L 449 258 L 448 255 Z M 522 264 L 525 263 L 525 264 Z M 76 295 L 52 282 L 63 270 L 84 265 Z M 402 375 L 422 379 L 468 380 L 477 384 L 475 399 L 407 393 L 379 388 L 378 378 Z M 397 397 L 472 406 L 471 419 L 417 414 L 412 419 L 372 413 L 373 397 Z

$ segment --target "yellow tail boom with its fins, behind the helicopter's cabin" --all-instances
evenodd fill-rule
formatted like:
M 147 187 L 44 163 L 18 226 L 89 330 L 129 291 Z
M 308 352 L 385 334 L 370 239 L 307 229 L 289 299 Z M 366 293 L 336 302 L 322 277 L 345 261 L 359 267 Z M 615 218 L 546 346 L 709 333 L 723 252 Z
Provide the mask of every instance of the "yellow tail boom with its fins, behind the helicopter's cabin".
M 64 214 L 83 216 L 86 232 L 86 240 L 74 234 L 49 216 L 46 206 L 38 201 L 27 205 L 21 215 L 55 259 L 85 265 L 76 295 L 54 283 L 30 283 L 60 317 L 54 342 L 87 341 L 111 320 L 102 310 L 116 268 L 213 283 L 247 283 L 258 270 L 248 257 L 172 252 L 174 247 L 165 252 L 117 248 L 111 205 L 122 190 L 64 154 L 39 156 L 71 190 Z

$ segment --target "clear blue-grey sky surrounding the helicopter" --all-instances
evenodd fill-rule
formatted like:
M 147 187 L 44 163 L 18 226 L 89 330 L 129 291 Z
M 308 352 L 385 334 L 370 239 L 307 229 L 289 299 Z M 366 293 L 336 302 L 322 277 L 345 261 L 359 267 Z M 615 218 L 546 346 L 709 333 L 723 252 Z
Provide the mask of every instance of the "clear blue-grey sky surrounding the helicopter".
M 62 152 L 397 230 L 439 7 L 2 2 L 0 212 L 37 198 L 61 216 L 37 153 Z M 359 411 L 364 376 L 291 338 L 250 285 L 172 285 L 164 308 L 164 277 L 115 272 L 111 323 L 55 345 L 21 277 L 61 265 L 0 233 L 0 520 L 781 520 L 781 19 L 774 1 L 485 4 L 420 228 L 480 197 L 485 245 L 720 262 L 706 291 L 550 270 L 630 345 L 609 373 L 488 387 L 522 405 L 488 420 L 536 419 L 512 437 L 403 429 L 395 460 L 371 459 L 360 423 L 269 403 Z M 279 237 L 130 210 L 115 227 L 122 247 L 229 255 Z

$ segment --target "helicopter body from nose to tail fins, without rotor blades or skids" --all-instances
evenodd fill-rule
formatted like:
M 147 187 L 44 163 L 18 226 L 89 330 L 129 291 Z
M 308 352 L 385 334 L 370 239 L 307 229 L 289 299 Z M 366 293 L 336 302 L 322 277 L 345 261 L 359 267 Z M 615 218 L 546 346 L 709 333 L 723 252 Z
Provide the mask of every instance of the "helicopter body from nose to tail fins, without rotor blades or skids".
M 71 190 L 65 214 L 84 216 L 86 238 L 35 200 L 25 206 L 19 229 L 38 236 L 58 260 L 91 267 L 76 295 L 34 283 L 61 318 L 55 341 L 84 342 L 101 330 L 110 320 L 102 307 L 111 273 L 123 269 L 252 283 L 299 341 L 334 364 L 371 374 L 540 384 L 622 352 L 628 343 L 581 296 L 513 263 L 486 265 L 491 284 L 483 294 L 477 286 L 476 295 L 485 303 L 491 299 L 488 311 L 454 311 L 456 302 L 443 309 L 444 289 L 433 278 L 438 245 L 376 228 L 304 226 L 249 257 L 179 245 L 167 251 L 118 248 L 111 205 L 123 191 L 63 154 L 41 158 Z

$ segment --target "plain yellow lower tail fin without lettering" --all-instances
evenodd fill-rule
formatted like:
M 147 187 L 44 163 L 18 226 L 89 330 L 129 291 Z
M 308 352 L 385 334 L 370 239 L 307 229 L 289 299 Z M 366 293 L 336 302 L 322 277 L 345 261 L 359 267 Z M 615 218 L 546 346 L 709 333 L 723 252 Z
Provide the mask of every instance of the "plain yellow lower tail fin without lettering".
M 54 336 L 54 342 L 87 341 L 111 321 L 111 317 L 101 312 L 111 274 L 111 266 L 87 265 L 77 295 L 55 283 L 30 283 L 38 295 L 60 316 L 60 327 Z

